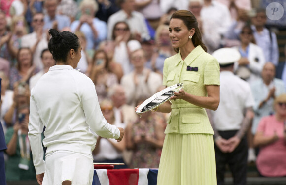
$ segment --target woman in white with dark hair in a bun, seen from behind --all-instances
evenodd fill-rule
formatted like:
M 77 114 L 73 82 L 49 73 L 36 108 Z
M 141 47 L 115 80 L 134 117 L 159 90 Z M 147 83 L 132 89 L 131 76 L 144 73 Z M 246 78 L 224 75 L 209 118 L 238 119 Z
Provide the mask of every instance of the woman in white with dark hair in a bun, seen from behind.
M 28 135 L 36 178 L 40 185 L 91 185 L 94 132 L 121 141 L 124 130 L 107 123 L 93 82 L 74 69 L 81 58 L 78 37 L 69 31 L 49 33 L 48 48 L 56 65 L 39 79 L 30 98 Z

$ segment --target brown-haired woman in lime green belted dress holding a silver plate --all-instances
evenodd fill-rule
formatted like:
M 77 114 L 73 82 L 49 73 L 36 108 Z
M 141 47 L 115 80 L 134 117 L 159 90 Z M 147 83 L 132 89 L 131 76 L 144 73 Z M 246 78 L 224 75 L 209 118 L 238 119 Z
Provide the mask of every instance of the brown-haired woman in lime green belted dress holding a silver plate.
M 205 108 L 219 105 L 219 64 L 206 53 L 190 11 L 176 11 L 169 32 L 177 54 L 164 62 L 163 85 L 184 88 L 156 110 L 171 112 L 157 185 L 216 185 L 214 132 Z

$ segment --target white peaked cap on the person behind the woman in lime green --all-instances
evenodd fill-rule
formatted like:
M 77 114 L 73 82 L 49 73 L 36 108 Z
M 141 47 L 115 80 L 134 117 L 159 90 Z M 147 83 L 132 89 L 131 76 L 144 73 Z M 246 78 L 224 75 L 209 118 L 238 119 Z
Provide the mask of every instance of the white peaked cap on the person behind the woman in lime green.
M 228 65 L 237 62 L 241 55 L 235 48 L 220 48 L 212 54 L 220 65 Z

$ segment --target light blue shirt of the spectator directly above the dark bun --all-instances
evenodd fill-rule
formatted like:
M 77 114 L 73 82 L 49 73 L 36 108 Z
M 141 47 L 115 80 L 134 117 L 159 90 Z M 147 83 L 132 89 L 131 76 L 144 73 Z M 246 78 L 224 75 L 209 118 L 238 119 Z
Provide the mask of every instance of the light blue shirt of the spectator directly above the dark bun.
M 61 31 L 65 27 L 70 27 L 71 21 L 70 18 L 66 15 L 56 15 L 54 19 L 51 19 L 50 16 L 45 15 L 44 17 L 44 29 L 50 29 L 53 27 L 53 22 L 58 21 L 58 30 Z

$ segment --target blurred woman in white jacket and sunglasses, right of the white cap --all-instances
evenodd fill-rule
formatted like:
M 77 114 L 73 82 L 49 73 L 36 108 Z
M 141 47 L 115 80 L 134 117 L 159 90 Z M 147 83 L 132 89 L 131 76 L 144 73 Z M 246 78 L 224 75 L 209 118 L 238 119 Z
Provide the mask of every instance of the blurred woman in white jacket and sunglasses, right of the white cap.
M 235 63 L 235 73 L 249 83 L 260 78 L 265 63 L 264 53 L 257 46 L 251 27 L 246 25 L 239 35 L 240 46 L 235 47 L 241 54 L 241 58 Z

